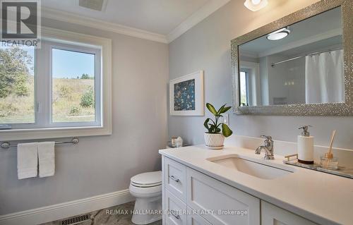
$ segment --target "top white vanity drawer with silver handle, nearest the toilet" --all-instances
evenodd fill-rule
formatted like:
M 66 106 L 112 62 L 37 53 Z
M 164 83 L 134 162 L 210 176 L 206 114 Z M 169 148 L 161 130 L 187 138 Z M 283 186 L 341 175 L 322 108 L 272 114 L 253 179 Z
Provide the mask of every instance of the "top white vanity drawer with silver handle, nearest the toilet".
M 167 190 L 186 202 L 186 166 L 165 158 L 164 183 Z

